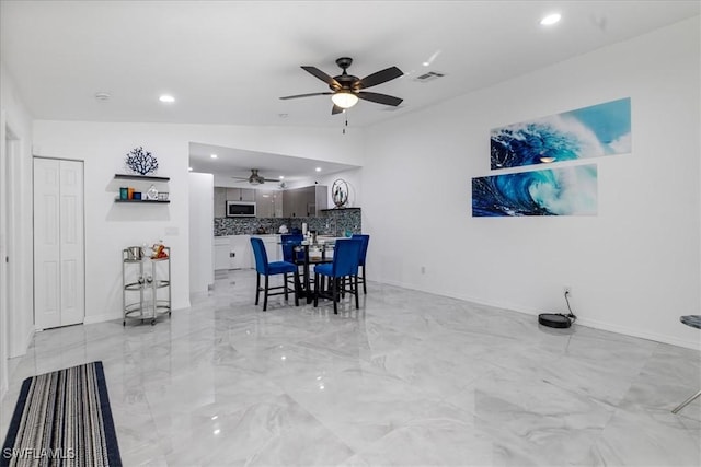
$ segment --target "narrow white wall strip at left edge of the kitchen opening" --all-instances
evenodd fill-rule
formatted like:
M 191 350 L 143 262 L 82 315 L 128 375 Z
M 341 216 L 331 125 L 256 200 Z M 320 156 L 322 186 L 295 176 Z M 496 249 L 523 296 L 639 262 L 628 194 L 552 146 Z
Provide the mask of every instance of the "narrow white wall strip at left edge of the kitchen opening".
M 188 175 L 189 180 L 189 293 L 206 293 L 215 283 L 215 177 Z

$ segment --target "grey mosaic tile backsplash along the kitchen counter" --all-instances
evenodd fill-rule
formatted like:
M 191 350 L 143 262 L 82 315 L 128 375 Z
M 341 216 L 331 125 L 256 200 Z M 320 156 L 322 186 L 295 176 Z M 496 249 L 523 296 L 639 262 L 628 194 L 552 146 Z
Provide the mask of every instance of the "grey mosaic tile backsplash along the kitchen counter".
M 301 231 L 303 222 L 307 229 L 320 235 L 343 236 L 346 231 L 363 232 L 360 208 L 330 209 L 322 211 L 320 218 L 215 218 L 214 229 L 215 236 L 275 234 L 283 224 L 290 232 L 294 229 Z

